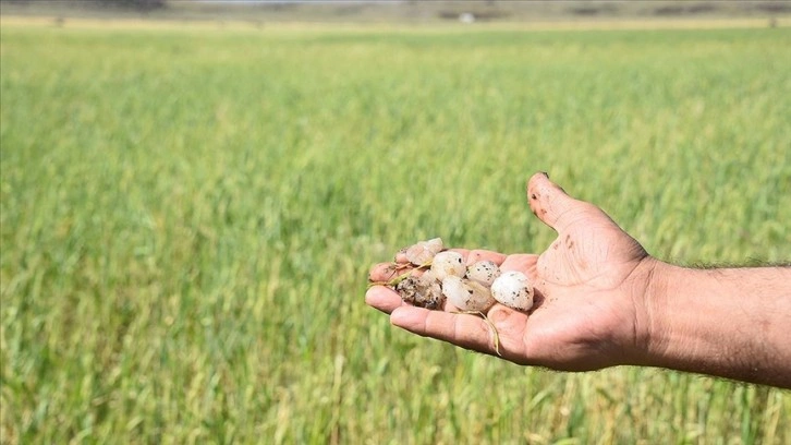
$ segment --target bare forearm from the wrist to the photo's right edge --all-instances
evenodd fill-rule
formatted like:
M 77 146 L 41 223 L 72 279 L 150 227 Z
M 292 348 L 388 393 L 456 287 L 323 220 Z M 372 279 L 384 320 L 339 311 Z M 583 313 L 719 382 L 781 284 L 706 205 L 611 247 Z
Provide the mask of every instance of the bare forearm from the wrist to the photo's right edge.
M 791 387 L 791 267 L 657 263 L 645 363 Z

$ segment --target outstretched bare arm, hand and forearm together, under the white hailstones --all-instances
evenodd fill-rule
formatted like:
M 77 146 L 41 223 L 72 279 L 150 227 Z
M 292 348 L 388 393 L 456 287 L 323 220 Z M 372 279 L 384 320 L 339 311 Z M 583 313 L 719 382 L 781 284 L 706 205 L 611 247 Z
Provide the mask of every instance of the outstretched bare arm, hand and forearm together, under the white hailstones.
M 558 232 L 540 255 L 463 250 L 535 284 L 530 313 L 496 304 L 487 317 L 446 305 L 405 304 L 374 286 L 366 302 L 421 336 L 524 365 L 591 371 L 658 366 L 791 388 L 791 267 L 694 269 L 650 256 L 597 206 L 569 196 L 546 173 L 527 183 L 532 212 Z M 402 273 L 402 272 L 401 272 Z M 391 264 L 372 281 L 392 277 Z

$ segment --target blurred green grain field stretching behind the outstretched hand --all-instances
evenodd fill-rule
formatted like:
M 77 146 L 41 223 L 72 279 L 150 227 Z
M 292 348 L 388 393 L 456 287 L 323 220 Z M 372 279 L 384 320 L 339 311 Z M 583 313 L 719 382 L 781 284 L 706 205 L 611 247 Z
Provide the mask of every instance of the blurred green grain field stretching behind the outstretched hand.
M 538 170 L 662 260 L 788 262 L 786 16 L 102 25 L 8 5 L 2 443 L 791 442 L 788 392 L 520 368 L 363 301 L 369 265 L 418 239 L 541 251 Z

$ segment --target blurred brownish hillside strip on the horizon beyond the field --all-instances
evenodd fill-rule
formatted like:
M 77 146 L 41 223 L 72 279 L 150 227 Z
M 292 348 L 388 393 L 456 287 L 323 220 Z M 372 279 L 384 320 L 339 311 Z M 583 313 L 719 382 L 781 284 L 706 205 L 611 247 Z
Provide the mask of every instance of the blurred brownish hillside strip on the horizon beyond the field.
M 259 1 L 0 0 L 9 15 L 123 16 L 256 22 L 523 22 L 791 15 L 789 1 Z

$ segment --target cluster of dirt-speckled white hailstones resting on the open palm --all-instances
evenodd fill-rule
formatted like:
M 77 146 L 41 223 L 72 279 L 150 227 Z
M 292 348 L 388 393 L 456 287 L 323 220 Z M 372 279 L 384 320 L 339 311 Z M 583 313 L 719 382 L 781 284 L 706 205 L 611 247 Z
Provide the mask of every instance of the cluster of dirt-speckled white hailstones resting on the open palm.
M 518 311 L 533 306 L 534 291 L 527 276 L 501 272 L 486 260 L 466 266 L 460 253 L 445 250 L 440 238 L 421 241 L 402 252 L 412 266 L 425 269 L 422 275 L 405 274 L 393 286 L 411 304 L 441 309 L 447 298 L 465 312 L 484 312 L 496 301 Z

